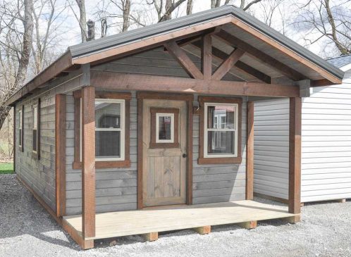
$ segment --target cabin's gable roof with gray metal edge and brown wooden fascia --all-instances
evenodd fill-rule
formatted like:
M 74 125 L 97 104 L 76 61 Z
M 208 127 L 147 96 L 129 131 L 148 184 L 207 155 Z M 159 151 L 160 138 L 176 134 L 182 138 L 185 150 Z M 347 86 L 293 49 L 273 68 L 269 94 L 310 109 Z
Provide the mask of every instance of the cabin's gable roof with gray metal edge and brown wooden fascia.
M 309 70 L 314 70 L 318 74 L 324 73 L 322 78 L 328 77 L 327 80 L 331 81 L 331 83 L 338 83 L 343 78 L 343 71 L 331 63 L 304 49 L 300 44 L 273 30 L 252 15 L 242 11 L 242 9 L 227 5 L 70 46 L 65 54 L 30 80 L 30 82 L 27 82 L 23 88 L 8 99 L 6 104 L 13 104 L 60 73 L 70 70 L 74 65 L 102 62 L 116 56 L 126 56 L 132 51 L 151 49 L 152 47 L 160 46 L 161 43 L 167 40 L 189 36 L 195 32 L 202 32 L 228 23 L 232 25 L 240 24 L 242 27 L 245 27 L 248 33 L 258 32 L 261 37 L 257 37 L 257 35 L 255 37 L 259 39 L 264 38 L 265 44 L 276 44 L 276 49 L 279 51 L 287 49 L 288 57 L 293 58 L 295 62 L 293 65 L 305 61 L 309 65 Z M 300 73 L 301 70 L 302 72 L 304 71 L 303 68 L 300 68 Z

